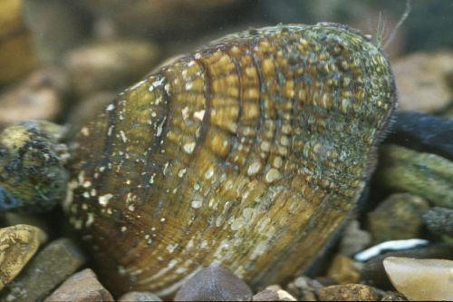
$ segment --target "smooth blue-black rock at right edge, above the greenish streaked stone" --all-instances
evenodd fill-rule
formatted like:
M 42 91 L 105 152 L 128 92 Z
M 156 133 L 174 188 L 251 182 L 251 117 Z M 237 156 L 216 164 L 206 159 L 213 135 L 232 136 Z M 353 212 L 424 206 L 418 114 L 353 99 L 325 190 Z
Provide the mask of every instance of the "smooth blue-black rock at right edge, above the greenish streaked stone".
M 453 119 L 419 112 L 396 112 L 386 141 L 453 160 Z

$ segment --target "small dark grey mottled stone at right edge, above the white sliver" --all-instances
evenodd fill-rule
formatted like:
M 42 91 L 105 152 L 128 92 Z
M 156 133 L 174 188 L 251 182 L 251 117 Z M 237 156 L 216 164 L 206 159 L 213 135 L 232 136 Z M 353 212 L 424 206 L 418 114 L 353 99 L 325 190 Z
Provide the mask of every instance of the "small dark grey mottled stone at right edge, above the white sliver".
M 423 214 L 423 220 L 434 234 L 453 236 L 453 209 L 434 207 Z

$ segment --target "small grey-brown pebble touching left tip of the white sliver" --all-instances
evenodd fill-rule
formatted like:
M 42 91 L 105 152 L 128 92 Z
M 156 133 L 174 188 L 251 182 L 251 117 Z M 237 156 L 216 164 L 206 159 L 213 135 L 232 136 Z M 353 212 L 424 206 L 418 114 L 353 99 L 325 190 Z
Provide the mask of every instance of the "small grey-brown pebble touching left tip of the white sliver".
M 360 229 L 360 223 L 354 219 L 349 222 L 342 231 L 339 253 L 351 257 L 363 248 L 370 246 L 371 234 L 367 230 Z

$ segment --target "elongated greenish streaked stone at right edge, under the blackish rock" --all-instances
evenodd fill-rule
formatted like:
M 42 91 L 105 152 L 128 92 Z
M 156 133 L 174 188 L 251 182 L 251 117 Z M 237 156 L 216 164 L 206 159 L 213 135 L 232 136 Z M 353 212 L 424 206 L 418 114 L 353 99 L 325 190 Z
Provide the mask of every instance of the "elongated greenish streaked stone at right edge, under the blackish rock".
M 453 209 L 453 161 L 394 144 L 384 144 L 377 180 L 392 190 L 406 191 Z

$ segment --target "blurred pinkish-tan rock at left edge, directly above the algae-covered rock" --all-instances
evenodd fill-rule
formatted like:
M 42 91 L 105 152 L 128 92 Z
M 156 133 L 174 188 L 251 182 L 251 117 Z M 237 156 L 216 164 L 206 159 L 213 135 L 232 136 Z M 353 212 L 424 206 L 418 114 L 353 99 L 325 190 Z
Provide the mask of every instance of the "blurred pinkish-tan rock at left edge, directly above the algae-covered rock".
M 0 129 L 26 120 L 54 121 L 61 113 L 68 87 L 66 73 L 59 68 L 31 73 L 23 82 L 0 94 Z

